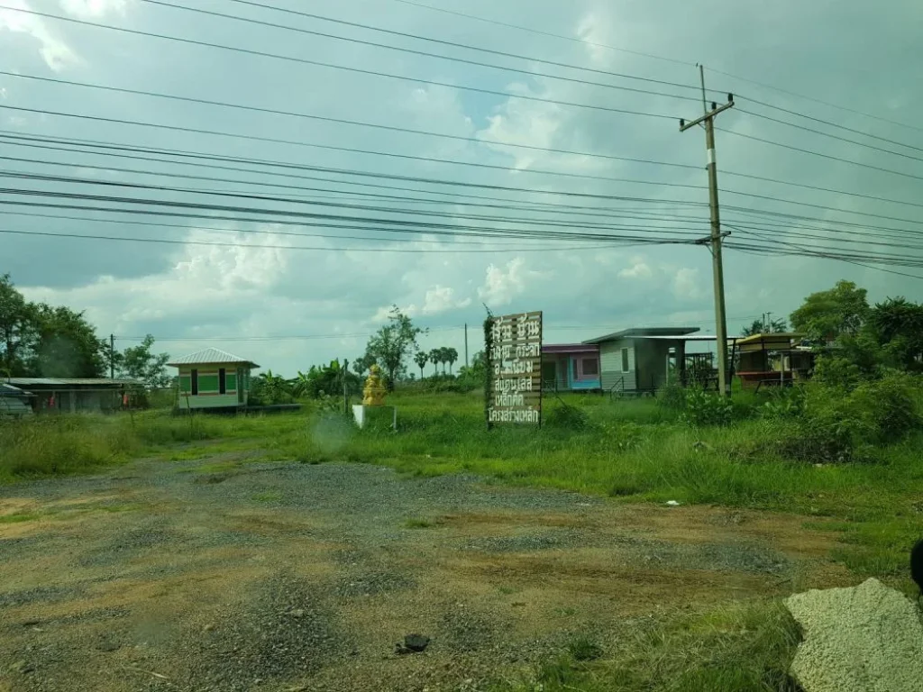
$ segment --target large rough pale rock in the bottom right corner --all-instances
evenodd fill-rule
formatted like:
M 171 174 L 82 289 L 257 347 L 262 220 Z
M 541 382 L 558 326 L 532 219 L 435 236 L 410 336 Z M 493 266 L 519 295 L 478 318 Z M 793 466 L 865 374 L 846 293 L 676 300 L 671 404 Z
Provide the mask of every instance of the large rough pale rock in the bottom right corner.
M 923 624 L 899 591 L 868 579 L 797 593 L 785 606 L 804 630 L 792 672 L 805 692 L 923 689 Z

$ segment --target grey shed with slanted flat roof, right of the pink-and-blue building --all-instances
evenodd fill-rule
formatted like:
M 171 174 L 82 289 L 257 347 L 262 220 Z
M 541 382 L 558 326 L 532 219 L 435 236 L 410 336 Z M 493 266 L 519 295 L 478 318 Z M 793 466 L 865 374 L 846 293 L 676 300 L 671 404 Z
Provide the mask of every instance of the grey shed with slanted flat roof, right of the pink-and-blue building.
M 670 361 L 685 363 L 686 341 L 697 327 L 631 328 L 586 340 L 599 348 L 600 386 L 604 391 L 653 393 L 663 387 Z

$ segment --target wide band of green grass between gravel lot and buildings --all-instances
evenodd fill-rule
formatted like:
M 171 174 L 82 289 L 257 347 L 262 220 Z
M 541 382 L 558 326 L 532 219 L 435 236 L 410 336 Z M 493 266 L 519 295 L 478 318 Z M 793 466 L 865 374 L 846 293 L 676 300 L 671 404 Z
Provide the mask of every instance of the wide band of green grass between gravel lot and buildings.
M 630 501 L 714 504 L 797 512 L 833 520 L 836 558 L 857 576 L 905 578 L 906 552 L 919 538 L 923 433 L 867 450 L 865 463 L 812 463 L 781 456 L 788 428 L 750 415 L 737 394 L 737 422 L 696 429 L 657 400 L 550 396 L 548 421 L 578 428 L 485 429 L 483 395 L 402 394 L 399 431 L 357 430 L 341 418 L 304 412 L 270 416 L 57 416 L 0 424 L 0 483 L 92 471 L 139 456 L 208 459 L 260 450 L 246 459 L 353 461 L 428 477 L 476 473 L 488 483 L 544 486 Z M 559 415 L 565 407 L 581 414 Z M 8 442 L 7 442 L 8 441 Z M 232 471 L 244 461 L 205 463 L 190 472 Z M 423 527 L 419 527 L 423 528 Z M 905 579 L 905 586 L 908 581 Z M 908 587 L 909 588 L 909 587 Z

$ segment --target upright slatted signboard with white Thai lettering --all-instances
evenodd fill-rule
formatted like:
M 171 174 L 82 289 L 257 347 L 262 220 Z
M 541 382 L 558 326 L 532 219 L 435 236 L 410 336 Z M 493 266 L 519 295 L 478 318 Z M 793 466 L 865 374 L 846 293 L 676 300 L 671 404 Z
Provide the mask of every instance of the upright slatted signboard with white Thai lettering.
M 494 317 L 490 341 L 487 425 L 541 425 L 542 313 Z

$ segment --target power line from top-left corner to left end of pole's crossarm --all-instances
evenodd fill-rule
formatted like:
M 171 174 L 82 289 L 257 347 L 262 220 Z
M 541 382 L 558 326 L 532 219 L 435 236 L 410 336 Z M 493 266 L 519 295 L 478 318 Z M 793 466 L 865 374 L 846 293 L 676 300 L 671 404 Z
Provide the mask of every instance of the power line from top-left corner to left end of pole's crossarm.
M 573 108 L 586 108 L 593 111 L 603 111 L 606 113 L 620 113 L 623 115 L 640 115 L 643 117 L 650 118 L 664 118 L 667 120 L 674 120 L 673 115 L 665 115 L 663 113 L 644 113 L 642 111 L 629 111 L 621 108 L 611 108 L 609 106 L 599 106 L 593 105 L 591 103 L 577 103 L 574 101 L 557 101 L 555 99 L 544 99 L 540 96 L 527 96 L 525 94 L 510 93 L 509 91 L 499 91 L 497 89 L 482 89 L 480 87 L 469 87 L 460 84 L 452 84 L 451 82 L 440 82 L 435 79 L 423 79 L 415 77 L 405 77 L 403 75 L 392 75 L 388 72 L 378 72 L 376 70 L 363 69 L 361 67 L 348 67 L 342 65 L 332 65 L 330 63 L 322 63 L 318 60 L 308 60 L 307 58 L 298 58 L 292 55 L 280 55 L 274 53 L 265 53 L 263 51 L 255 51 L 248 48 L 241 48 L 239 46 L 228 46 L 222 45 L 221 43 L 210 43 L 205 41 L 196 41 L 193 39 L 183 39 L 178 36 L 168 36 L 161 33 L 153 33 L 151 31 L 140 31 L 135 29 L 125 29 L 124 27 L 115 27 L 111 24 L 98 24 L 96 22 L 83 21 L 82 19 L 75 19 L 71 17 L 62 17 L 60 15 L 53 15 L 47 12 L 37 12 L 35 10 L 27 10 L 18 7 L 7 7 L 0 6 L 0 9 L 11 10 L 14 12 L 25 12 L 30 15 L 37 15 L 39 17 L 60 19 L 62 21 L 74 22 L 77 24 L 82 24 L 85 26 L 96 27 L 98 29 L 108 29 L 114 31 L 122 31 L 129 34 L 134 34 L 138 36 L 147 36 L 149 38 L 163 39 L 165 41 L 174 41 L 180 43 L 188 43 L 191 45 L 204 46 L 206 48 L 218 48 L 224 51 L 232 51 L 234 53 L 248 54 L 248 55 L 258 55 L 260 57 L 269 57 L 277 60 L 284 60 L 292 63 L 300 63 L 304 65 L 318 66 L 318 67 L 329 67 L 331 69 L 344 70 L 346 72 L 353 72 L 355 74 L 367 75 L 371 77 L 382 77 L 389 79 L 396 79 L 400 81 L 414 82 L 414 84 L 427 84 L 433 87 L 444 87 L 446 89 L 459 89 L 462 91 L 472 91 L 473 93 L 489 94 L 491 96 L 502 96 L 508 99 L 521 99 L 522 101 L 535 101 L 539 103 L 553 103 L 559 106 L 569 106 Z M 261 109 L 253 109 L 261 110 Z

